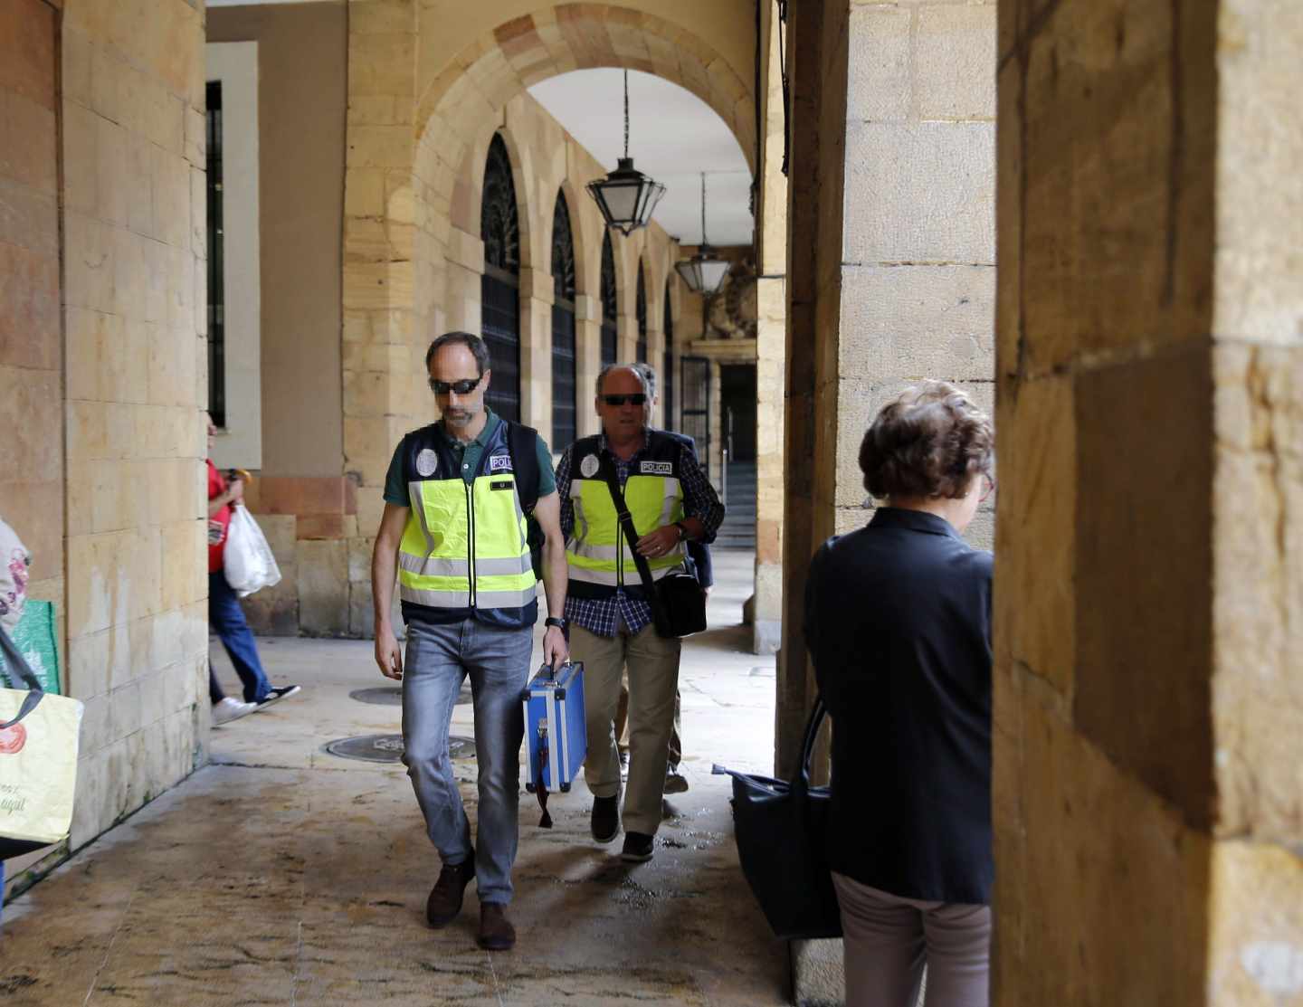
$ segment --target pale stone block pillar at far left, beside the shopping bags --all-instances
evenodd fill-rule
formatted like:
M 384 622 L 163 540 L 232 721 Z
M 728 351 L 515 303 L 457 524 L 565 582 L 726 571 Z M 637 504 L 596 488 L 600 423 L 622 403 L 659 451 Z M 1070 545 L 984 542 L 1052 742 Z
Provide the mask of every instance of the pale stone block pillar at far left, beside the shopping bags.
M 203 13 L 185 0 L 69 3 L 53 48 L 40 29 L 48 5 L 13 9 L 18 23 L 33 18 L 30 34 L 20 33 L 31 50 L 18 60 L 0 51 L 0 61 L 7 82 L 31 81 L 31 90 L 22 100 L 0 90 L 0 116 L 13 124 L 4 163 L 7 172 L 35 173 L 17 181 L 38 193 L 51 193 L 56 180 L 39 156 L 53 141 L 55 102 L 35 87 L 53 81 L 55 68 L 39 61 L 63 57 L 57 198 L 66 383 L 60 393 L 57 382 L 51 387 L 35 371 L 16 397 L 8 383 L 0 391 L 7 409 L 42 393 L 65 400 L 66 456 L 53 469 L 55 478 L 66 473 L 68 606 L 60 631 L 68 633 L 69 693 L 86 703 L 76 849 L 206 759 Z M 9 240 L 13 229 L 53 219 L 52 202 L 40 210 L 23 197 L 7 178 L 0 231 Z M 5 310 L 12 297 L 18 305 L 31 298 L 18 328 L 0 328 L 0 345 L 16 336 L 20 348 L 36 350 L 59 301 L 43 289 L 50 274 L 42 258 L 51 245 L 31 254 L 25 244 L 20 231 L 17 245 L 0 246 L 0 274 L 21 263 L 0 275 Z M 25 451 L 48 434 L 38 426 L 48 418 L 43 401 L 18 416 L 0 469 L 12 473 L 5 462 L 27 461 Z M 56 439 L 52 456 L 33 460 L 30 477 L 46 479 L 57 457 Z M 48 541 L 31 538 L 29 546 Z M 38 576 L 50 576 L 52 560 L 57 554 L 35 556 Z

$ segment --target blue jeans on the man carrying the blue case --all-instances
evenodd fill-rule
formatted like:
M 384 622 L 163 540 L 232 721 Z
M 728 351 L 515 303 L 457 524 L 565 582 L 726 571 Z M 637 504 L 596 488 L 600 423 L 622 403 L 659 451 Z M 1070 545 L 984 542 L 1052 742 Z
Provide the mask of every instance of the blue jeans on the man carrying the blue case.
M 480 763 L 476 886 L 480 901 L 511 901 L 520 809 L 520 693 L 529 680 L 530 627 L 503 629 L 474 619 L 446 625 L 408 623 L 403 662 L 403 762 L 444 864 L 470 856 L 470 823 L 448 757 L 448 727 L 470 676 Z

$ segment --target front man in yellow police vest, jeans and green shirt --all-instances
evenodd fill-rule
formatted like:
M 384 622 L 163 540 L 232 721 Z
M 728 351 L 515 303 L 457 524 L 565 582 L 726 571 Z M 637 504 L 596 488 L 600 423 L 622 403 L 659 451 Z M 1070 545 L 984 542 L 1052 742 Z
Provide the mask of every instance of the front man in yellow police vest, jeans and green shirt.
M 425 362 L 442 419 L 403 438 L 386 478 L 371 558 L 375 660 L 403 683 L 403 761 L 443 861 L 426 918 L 447 926 L 474 878 L 478 943 L 504 951 L 516 942 L 506 905 L 516 858 L 520 693 L 538 617 L 528 517 L 545 537 L 543 659 L 555 666 L 568 655 L 560 498 L 543 439 L 485 406 L 491 371 L 483 340 L 448 332 L 430 344 Z M 395 573 L 405 660 L 390 616 Z M 474 847 L 448 754 L 452 707 L 468 675 L 480 771 Z

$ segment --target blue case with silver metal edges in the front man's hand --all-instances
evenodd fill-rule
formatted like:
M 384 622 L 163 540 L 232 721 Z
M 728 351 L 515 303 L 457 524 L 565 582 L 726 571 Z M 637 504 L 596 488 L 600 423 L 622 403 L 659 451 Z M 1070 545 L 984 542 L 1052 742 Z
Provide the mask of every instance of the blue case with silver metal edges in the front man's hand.
M 584 719 L 584 662 L 556 668 L 543 664 L 520 694 L 525 705 L 525 789 L 539 780 L 547 791 L 566 792 L 588 754 Z

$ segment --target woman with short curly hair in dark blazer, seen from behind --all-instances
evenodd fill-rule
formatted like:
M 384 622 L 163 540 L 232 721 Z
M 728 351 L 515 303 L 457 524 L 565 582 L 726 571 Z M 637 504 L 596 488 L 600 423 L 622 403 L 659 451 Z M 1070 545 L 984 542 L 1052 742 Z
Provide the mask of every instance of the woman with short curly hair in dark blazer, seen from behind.
M 924 382 L 864 435 L 865 528 L 816 554 L 805 637 L 833 718 L 829 862 L 850 1007 L 989 1002 L 990 552 L 960 538 L 994 489 L 990 419 Z

